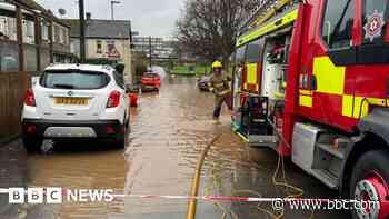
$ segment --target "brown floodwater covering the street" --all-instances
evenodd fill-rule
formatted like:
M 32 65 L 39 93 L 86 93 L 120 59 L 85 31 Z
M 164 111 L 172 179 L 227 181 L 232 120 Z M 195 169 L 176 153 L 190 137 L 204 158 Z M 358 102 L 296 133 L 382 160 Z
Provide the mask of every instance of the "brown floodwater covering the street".
M 297 188 L 277 186 L 272 180 L 279 163 L 276 152 L 246 146 L 231 131 L 227 109 L 221 125 L 215 125 L 212 106 L 212 94 L 198 91 L 196 79 L 167 78 L 160 93 L 142 94 L 139 108 L 132 109 L 131 132 L 124 150 L 97 142 L 57 142 L 54 150 L 47 155 L 27 156 L 21 143 L 14 142 L 1 149 L 0 185 L 6 188 L 24 183 L 27 187 L 113 189 L 120 195 L 189 196 L 199 155 L 211 139 L 221 135 L 202 168 L 201 196 L 282 198 L 303 193 L 305 198 L 337 197 L 335 191 L 295 167 L 289 159 L 285 160 L 285 180 L 281 168 L 276 182 L 287 181 Z M 18 162 L 20 168 L 14 168 Z M 112 202 L 13 206 L 0 218 L 181 219 L 186 218 L 187 208 L 188 200 L 184 199 L 127 197 Z M 279 213 L 269 203 L 232 201 L 199 201 L 197 209 L 197 218 L 201 219 L 267 219 Z M 283 218 L 349 217 L 347 212 L 337 211 L 288 210 L 285 213 Z

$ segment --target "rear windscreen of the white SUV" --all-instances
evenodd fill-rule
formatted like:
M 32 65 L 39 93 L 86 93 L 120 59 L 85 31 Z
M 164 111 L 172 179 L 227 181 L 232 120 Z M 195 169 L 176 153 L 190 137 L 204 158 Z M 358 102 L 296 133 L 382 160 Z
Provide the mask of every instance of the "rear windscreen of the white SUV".
M 46 71 L 41 86 L 52 89 L 101 89 L 108 86 L 110 78 L 102 72 L 91 71 Z

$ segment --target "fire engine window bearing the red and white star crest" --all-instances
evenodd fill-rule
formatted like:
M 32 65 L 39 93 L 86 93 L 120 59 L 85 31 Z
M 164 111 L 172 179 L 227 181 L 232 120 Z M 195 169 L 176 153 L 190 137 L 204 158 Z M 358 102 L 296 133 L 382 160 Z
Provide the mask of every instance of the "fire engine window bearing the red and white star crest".
M 363 43 L 381 42 L 388 20 L 388 0 L 365 0 L 362 14 Z

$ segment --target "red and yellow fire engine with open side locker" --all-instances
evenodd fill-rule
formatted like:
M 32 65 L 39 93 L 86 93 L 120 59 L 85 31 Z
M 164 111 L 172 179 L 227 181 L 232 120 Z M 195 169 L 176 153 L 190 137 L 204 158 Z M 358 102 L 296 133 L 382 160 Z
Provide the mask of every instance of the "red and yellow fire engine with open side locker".
M 242 28 L 232 128 L 389 217 L 389 2 L 268 0 Z

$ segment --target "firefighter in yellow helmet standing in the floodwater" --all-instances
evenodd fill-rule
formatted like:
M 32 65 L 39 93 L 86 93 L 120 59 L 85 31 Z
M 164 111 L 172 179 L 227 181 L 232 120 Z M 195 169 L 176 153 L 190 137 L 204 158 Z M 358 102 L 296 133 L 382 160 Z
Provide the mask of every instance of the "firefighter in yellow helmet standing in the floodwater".
M 228 97 L 231 93 L 229 80 L 223 76 L 222 64 L 220 61 L 212 63 L 213 76 L 209 82 L 209 89 L 215 93 L 213 119 L 219 123 L 220 111 L 223 102 L 227 103 Z

